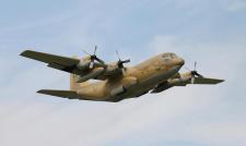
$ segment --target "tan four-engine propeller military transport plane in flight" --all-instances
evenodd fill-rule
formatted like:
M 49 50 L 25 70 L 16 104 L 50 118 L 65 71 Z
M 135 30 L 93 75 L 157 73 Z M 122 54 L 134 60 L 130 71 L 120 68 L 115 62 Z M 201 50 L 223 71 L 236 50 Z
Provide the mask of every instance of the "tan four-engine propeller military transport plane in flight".
M 25 50 L 21 56 L 42 61 L 49 68 L 70 73 L 70 90 L 42 89 L 37 93 L 69 99 L 117 102 L 144 94 L 157 94 L 175 86 L 188 84 L 219 84 L 223 80 L 203 77 L 195 70 L 178 73 L 184 59 L 172 52 L 161 53 L 136 66 L 126 68 L 130 60 L 105 63 L 93 54 L 85 58 L 67 58 Z M 98 82 L 91 82 L 97 80 Z

